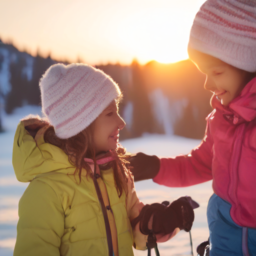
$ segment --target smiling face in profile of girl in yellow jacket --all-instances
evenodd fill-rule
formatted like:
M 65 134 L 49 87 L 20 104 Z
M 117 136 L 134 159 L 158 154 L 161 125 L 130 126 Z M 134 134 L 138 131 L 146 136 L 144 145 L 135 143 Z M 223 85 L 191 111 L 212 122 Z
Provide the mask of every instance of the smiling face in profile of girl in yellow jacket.
M 118 107 L 113 100 L 95 119 L 93 141 L 96 153 L 108 151 L 117 147 L 119 130 L 125 122 L 118 114 Z

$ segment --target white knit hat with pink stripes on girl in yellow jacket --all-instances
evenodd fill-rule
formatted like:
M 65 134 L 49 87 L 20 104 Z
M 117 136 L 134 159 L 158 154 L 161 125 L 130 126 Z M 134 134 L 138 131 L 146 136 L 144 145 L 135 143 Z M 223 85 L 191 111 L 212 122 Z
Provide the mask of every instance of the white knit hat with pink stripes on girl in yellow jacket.
M 59 138 L 78 134 L 121 94 L 111 77 L 81 63 L 50 66 L 39 85 L 42 112 Z

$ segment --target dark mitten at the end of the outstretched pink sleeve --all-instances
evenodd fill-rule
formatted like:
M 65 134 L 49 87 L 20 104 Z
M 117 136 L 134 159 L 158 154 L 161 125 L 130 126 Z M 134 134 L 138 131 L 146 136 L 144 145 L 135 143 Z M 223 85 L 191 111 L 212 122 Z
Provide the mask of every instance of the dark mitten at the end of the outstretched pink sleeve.
M 134 181 L 154 178 L 160 169 L 160 159 L 156 155 L 137 153 L 128 159 Z

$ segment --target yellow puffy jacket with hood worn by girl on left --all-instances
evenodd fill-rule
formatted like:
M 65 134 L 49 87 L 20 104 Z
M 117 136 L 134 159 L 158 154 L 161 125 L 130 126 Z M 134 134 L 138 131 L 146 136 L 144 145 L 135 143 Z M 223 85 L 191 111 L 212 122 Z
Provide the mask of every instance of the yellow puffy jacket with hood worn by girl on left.
M 108 255 L 103 214 L 92 178 L 86 177 L 84 170 L 78 184 L 67 155 L 44 142 L 45 127 L 34 138 L 27 132 L 24 126 L 31 122 L 34 119 L 20 121 L 13 143 L 16 177 L 21 182 L 30 181 L 19 201 L 13 255 Z M 112 169 L 101 176 L 114 215 L 119 256 L 133 255 L 133 243 L 137 249 L 146 249 L 147 237 L 130 226 L 143 207 L 133 182 L 128 184 L 128 195 L 122 193 L 119 198 Z

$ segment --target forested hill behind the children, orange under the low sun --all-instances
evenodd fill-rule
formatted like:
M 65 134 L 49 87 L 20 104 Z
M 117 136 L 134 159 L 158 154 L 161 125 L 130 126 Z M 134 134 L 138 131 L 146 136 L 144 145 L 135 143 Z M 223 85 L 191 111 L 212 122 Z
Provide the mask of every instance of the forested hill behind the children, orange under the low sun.
M 11 113 L 18 106 L 39 105 L 38 81 L 54 63 L 50 56 L 38 53 L 33 57 L 0 41 L 0 107 Z M 190 60 L 96 67 L 109 74 L 123 92 L 120 115 L 126 126 L 120 132 L 122 139 L 145 132 L 203 137 L 211 93 L 203 88 L 205 77 Z

